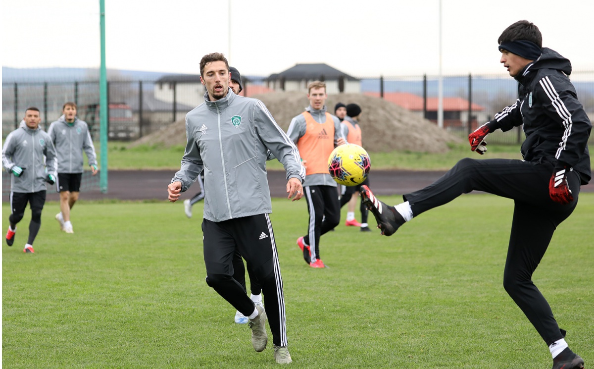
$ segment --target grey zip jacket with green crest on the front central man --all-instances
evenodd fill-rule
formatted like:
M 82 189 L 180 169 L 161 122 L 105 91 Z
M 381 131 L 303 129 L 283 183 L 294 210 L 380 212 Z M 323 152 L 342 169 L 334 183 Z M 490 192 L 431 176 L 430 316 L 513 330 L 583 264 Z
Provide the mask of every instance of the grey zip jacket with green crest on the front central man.
M 287 180 L 305 178 L 299 151 L 276 124 L 264 103 L 237 96 L 204 103 L 186 115 L 188 143 L 181 169 L 171 182 L 182 192 L 204 169 L 204 218 L 222 222 L 237 217 L 271 213 L 266 172 L 268 150 L 285 167 Z

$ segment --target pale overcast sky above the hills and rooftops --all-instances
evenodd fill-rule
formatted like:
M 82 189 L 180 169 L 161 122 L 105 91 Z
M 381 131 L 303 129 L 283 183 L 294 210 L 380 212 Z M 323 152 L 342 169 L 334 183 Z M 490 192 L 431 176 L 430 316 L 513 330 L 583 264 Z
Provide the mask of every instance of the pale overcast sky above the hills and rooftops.
M 110 69 L 197 74 L 203 55 L 223 52 L 244 75 L 317 62 L 355 77 L 439 71 L 439 0 L 105 4 Z M 539 27 L 543 46 L 569 58 L 574 71 L 592 71 L 593 4 L 442 0 L 443 74 L 505 74 L 497 39 L 523 19 Z M 99 0 L 2 0 L 2 66 L 98 67 L 99 62 Z

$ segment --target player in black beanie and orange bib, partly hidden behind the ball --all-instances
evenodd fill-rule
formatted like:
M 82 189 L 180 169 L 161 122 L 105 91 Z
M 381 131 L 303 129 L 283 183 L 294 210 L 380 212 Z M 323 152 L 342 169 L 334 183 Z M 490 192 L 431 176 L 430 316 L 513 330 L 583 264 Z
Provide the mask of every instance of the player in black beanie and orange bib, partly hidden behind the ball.
M 361 127 L 359 126 L 360 118 L 361 106 L 350 103 L 346 106 L 346 116 L 342 125 L 346 128 L 346 140 L 348 143 L 357 144 L 363 147 Z M 361 223 L 357 222 L 355 219 L 355 207 L 357 206 L 359 191 L 361 190 L 362 185 L 369 186 L 369 176 L 365 178 L 365 181 L 356 186 L 341 185 L 342 195 L 340 196 L 340 207 L 342 208 L 345 204 L 348 204 L 345 222 L 346 226 L 361 227 L 361 232 L 371 232 L 367 223 L 368 210 L 363 201 L 361 201 L 361 205 L 359 206 L 359 209 L 361 210 Z

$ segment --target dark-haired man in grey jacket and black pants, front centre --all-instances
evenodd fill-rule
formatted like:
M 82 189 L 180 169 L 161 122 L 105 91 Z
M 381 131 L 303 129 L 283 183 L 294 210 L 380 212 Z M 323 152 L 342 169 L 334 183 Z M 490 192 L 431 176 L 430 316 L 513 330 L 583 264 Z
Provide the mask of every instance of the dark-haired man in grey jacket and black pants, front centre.
M 288 198 L 302 197 L 305 169 L 299 152 L 260 100 L 229 89 L 229 64 L 221 53 L 200 61 L 206 86 L 204 103 L 186 115 L 188 143 L 181 169 L 168 186 L 169 201 L 179 199 L 204 169 L 202 223 L 206 282 L 249 318 L 252 346 L 266 348 L 266 320 L 273 334 L 274 359 L 289 363 L 285 299 L 279 258 L 268 213 L 272 211 L 266 175 L 268 150 L 285 166 Z M 235 251 L 247 260 L 262 284 L 266 311 L 233 279 Z

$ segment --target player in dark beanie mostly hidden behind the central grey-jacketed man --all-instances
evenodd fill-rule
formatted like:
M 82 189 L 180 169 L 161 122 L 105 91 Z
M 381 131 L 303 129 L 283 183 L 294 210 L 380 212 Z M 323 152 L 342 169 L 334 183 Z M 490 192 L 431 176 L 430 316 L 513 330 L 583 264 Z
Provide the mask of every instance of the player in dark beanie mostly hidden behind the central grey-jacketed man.
M 233 91 L 233 93 L 238 95 L 244 89 L 244 84 L 241 81 L 241 74 L 239 74 L 239 71 L 233 67 L 229 67 L 229 72 L 231 74 L 229 87 Z M 195 194 L 194 197 L 191 198 L 191 200 L 184 200 L 185 213 L 188 218 L 192 217 L 192 206 L 194 206 L 195 203 L 204 198 L 205 193 L 203 180 L 204 171 L 200 172 L 200 175 L 196 179 L 196 182 L 198 182 L 198 185 L 200 185 L 200 192 Z M 254 301 L 254 304 L 260 305 L 262 308 L 264 308 L 264 305 L 262 304 L 262 286 L 260 285 L 260 282 L 258 282 L 258 279 L 255 277 L 254 272 L 252 272 L 249 266 L 248 274 L 249 289 L 251 292 L 249 298 L 251 298 L 252 301 Z M 245 284 L 245 266 L 244 261 L 242 260 L 241 255 L 239 254 L 239 251 L 235 251 L 235 254 L 233 254 L 233 279 L 238 281 L 239 284 L 244 288 L 244 291 L 247 293 L 248 289 L 247 285 Z M 235 312 L 235 317 L 233 318 L 233 320 L 237 324 L 248 323 L 248 318 L 244 316 L 244 314 L 242 314 L 239 310 Z

